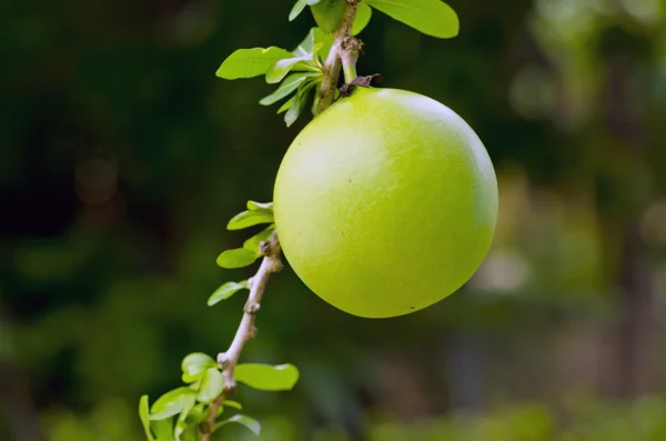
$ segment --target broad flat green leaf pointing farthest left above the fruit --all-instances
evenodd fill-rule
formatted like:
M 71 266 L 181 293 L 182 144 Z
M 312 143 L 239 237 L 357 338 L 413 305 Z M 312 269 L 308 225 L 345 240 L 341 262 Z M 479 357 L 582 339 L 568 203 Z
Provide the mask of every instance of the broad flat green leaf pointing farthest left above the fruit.
M 265 74 L 273 64 L 293 54 L 274 46 L 270 48 L 239 49 L 226 58 L 215 73 L 225 80 Z

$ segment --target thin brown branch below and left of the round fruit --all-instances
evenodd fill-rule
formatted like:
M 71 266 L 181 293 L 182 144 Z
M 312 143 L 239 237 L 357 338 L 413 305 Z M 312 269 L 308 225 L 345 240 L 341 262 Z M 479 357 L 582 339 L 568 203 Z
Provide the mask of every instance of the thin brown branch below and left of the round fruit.
M 261 243 L 260 251 L 264 258 L 256 274 L 250 279 L 250 294 L 248 295 L 248 301 L 243 308 L 243 318 L 241 319 L 239 329 L 236 330 L 229 350 L 218 354 L 218 364 L 220 364 L 222 375 L 224 377 L 224 390 L 211 404 L 208 419 L 200 427 L 200 431 L 203 433 L 202 441 L 210 441 L 220 405 L 235 392 L 236 383 L 233 379 L 233 370 L 239 362 L 245 343 L 256 337 L 254 319 L 256 312 L 259 312 L 261 299 L 266 289 L 269 278 L 272 273 L 279 272 L 283 268 L 282 261 L 280 260 L 280 241 L 278 240 L 278 234 L 275 232 L 273 232 L 271 239 Z

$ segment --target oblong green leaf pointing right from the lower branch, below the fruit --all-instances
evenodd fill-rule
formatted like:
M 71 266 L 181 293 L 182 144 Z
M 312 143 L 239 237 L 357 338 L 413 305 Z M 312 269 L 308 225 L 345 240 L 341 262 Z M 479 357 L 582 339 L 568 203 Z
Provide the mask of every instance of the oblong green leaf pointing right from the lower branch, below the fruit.
M 262 391 L 291 390 L 299 381 L 299 369 L 293 364 L 243 363 L 235 367 L 236 381 Z

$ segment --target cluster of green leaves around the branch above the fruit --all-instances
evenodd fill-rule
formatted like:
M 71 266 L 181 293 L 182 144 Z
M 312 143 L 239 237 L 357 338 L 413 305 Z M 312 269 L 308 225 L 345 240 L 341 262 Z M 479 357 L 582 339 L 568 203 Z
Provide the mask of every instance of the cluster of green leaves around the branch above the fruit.
M 320 98 L 316 91 L 324 76 L 323 66 L 346 0 L 297 0 L 289 14 L 290 21 L 306 8 L 310 8 L 317 26 L 295 49 L 289 51 L 275 46 L 239 49 L 222 62 L 216 72 L 218 77 L 226 80 L 264 76 L 269 84 L 279 84 L 259 103 L 272 106 L 284 100 L 278 113 L 284 113 L 287 127 L 309 107 L 314 114 Z M 373 9 L 431 37 L 453 38 L 458 33 L 455 11 L 440 0 L 362 0 L 357 4 L 352 34 L 361 33 L 370 23 Z

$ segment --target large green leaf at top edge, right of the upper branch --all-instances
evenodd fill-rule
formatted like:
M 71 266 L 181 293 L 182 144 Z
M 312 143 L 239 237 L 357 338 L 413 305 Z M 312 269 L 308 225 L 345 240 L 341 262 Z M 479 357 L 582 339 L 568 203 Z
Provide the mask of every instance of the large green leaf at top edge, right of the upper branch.
M 458 34 L 457 14 L 448 4 L 440 0 L 363 1 L 426 36 L 453 38 Z

